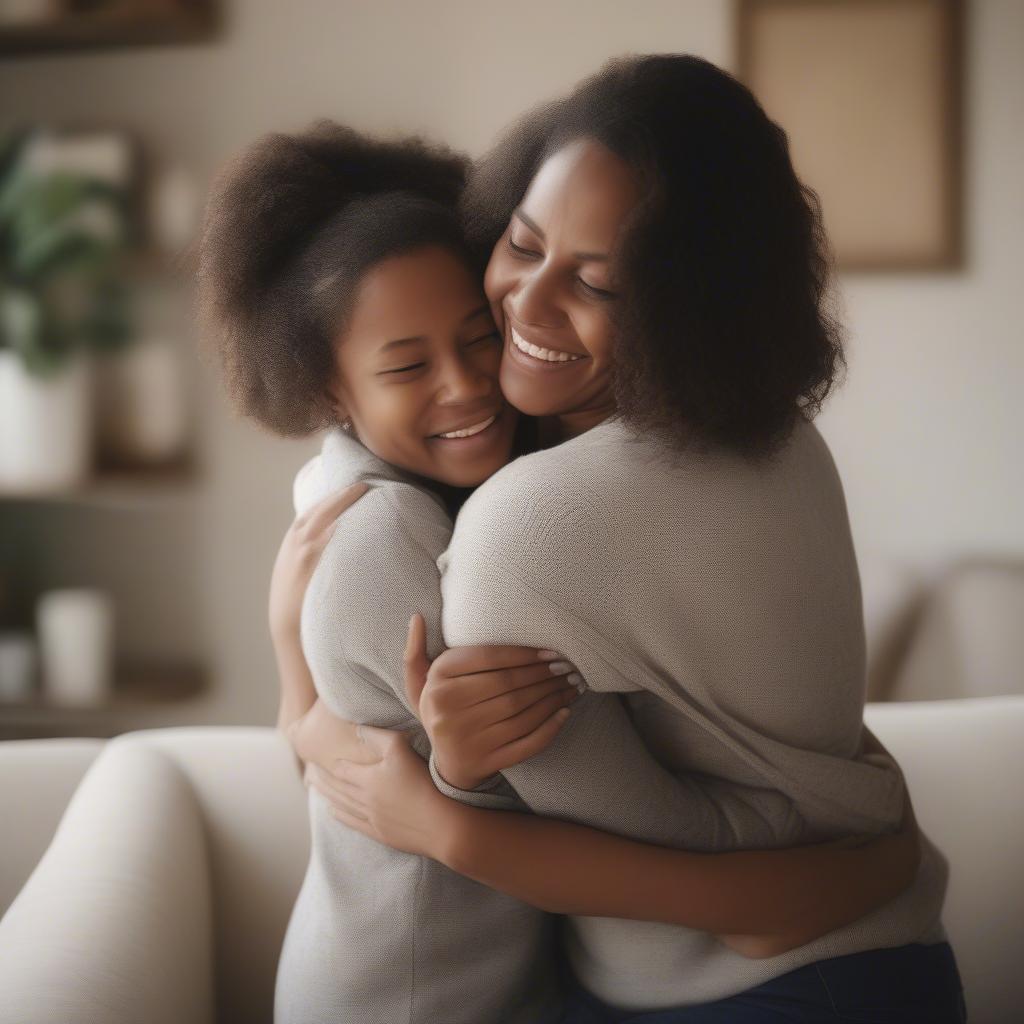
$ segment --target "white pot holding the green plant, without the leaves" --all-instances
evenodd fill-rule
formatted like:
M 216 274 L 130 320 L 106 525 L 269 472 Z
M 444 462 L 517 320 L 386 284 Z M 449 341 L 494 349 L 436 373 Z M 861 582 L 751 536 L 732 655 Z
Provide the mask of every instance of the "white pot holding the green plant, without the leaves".
M 57 374 L 30 374 L 0 350 L 0 492 L 61 490 L 92 461 L 91 364 L 76 354 Z

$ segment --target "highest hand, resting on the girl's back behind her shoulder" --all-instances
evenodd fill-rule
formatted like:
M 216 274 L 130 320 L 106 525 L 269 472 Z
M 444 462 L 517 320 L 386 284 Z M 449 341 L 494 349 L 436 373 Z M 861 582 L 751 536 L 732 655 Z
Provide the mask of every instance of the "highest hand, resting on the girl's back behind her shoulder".
M 299 644 L 302 599 L 313 569 L 334 534 L 338 516 L 369 489 L 366 483 L 353 483 L 296 516 L 288 527 L 270 574 L 269 621 L 274 648 Z

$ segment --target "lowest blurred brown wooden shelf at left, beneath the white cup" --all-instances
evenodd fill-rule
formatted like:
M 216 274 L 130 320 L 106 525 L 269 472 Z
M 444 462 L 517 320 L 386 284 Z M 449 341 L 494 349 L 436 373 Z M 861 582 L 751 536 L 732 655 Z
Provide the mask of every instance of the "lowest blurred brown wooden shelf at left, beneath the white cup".
M 124 665 L 114 693 L 101 706 L 47 702 L 42 695 L 0 701 L 0 740 L 47 736 L 114 736 L 164 725 L 169 712 L 184 710 L 207 692 L 205 673 L 195 666 Z

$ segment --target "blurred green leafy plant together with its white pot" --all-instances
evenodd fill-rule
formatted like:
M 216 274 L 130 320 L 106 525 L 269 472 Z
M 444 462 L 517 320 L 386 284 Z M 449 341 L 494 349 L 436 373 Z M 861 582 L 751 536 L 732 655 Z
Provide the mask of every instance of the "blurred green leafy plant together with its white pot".
M 124 190 L 33 166 L 37 133 L 0 139 L 0 490 L 89 471 L 89 353 L 129 337 Z

